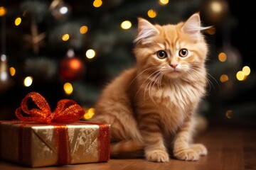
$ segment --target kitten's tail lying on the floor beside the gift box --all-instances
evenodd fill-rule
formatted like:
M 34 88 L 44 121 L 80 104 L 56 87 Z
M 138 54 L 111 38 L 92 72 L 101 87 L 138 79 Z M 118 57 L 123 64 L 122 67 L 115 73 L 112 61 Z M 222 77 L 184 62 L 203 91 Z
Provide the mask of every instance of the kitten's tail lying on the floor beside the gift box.
M 119 159 L 144 157 L 144 145 L 136 140 L 122 140 L 110 144 L 110 157 Z

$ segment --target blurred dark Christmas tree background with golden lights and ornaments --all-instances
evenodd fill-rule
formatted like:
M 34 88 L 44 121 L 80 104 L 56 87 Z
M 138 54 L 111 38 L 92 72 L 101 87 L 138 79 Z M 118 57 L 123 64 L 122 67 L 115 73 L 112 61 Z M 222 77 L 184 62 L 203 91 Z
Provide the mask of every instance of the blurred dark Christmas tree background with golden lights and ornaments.
M 256 125 L 256 24 L 253 1 L 10 0 L 0 1 L 0 120 L 31 91 L 52 109 L 62 98 L 86 108 L 101 89 L 135 64 L 137 17 L 185 21 L 200 11 L 209 45 L 208 96 L 200 113 L 213 125 Z

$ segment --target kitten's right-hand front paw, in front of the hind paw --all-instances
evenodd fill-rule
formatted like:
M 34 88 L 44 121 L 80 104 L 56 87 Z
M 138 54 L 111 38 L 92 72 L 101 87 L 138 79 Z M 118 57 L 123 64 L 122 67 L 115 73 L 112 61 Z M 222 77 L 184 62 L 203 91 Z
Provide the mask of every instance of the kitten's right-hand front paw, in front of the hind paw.
M 188 148 L 174 152 L 174 157 L 182 161 L 198 161 L 200 154 L 194 149 Z

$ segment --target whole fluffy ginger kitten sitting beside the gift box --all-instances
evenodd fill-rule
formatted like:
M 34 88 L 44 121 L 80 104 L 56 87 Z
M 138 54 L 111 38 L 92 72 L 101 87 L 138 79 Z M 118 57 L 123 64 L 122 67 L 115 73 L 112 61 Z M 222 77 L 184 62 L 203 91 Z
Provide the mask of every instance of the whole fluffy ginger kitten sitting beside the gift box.
M 137 66 L 102 91 L 92 121 L 111 125 L 111 157 L 151 162 L 196 161 L 207 149 L 192 144 L 193 120 L 206 94 L 206 55 L 200 16 L 176 25 L 139 18 Z

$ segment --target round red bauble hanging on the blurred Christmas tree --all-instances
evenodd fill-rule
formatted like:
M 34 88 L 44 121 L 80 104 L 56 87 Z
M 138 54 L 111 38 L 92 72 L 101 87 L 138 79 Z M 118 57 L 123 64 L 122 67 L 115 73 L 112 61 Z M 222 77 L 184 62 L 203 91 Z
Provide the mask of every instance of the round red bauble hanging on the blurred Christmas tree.
M 75 57 L 75 52 L 70 49 L 67 56 L 60 61 L 59 75 L 63 81 L 75 81 L 85 74 L 85 64 L 80 58 Z

